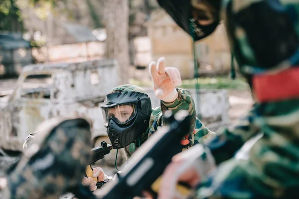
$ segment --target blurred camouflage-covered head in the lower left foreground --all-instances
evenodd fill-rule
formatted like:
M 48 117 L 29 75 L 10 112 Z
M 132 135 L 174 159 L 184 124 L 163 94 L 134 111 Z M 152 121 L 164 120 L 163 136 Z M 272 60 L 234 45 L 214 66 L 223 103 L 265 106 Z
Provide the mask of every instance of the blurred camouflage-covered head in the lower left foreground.
M 45 121 L 7 174 L 4 199 L 58 199 L 82 186 L 91 156 L 90 124 L 81 118 Z

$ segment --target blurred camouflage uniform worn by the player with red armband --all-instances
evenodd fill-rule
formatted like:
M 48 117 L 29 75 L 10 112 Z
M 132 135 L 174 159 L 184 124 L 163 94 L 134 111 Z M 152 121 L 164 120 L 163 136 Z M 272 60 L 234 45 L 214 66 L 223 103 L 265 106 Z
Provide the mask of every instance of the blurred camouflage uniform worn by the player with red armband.
M 256 103 L 239 125 L 208 144 L 219 168 L 199 185 L 197 197 L 298 198 L 299 92 L 281 84 L 299 87 L 298 76 L 292 76 L 296 70 L 291 70 L 299 65 L 299 1 L 222 0 L 222 5 L 233 53 Z M 273 81 L 282 76 L 280 84 Z M 264 85 L 254 84 L 261 77 L 268 78 Z M 257 95 L 261 86 L 264 92 L 275 86 L 273 93 L 285 96 L 261 101 Z M 262 136 L 256 139 L 258 135 Z M 244 143 L 251 143 L 250 149 L 241 148 Z

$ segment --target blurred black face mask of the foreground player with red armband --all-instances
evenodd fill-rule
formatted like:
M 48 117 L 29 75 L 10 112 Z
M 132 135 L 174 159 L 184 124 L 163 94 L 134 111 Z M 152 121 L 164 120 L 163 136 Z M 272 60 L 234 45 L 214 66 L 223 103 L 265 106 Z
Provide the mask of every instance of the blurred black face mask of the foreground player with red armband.
M 219 24 L 219 10 L 221 0 L 210 0 L 213 7 L 214 22 L 210 25 L 200 25 L 198 19 L 207 20 L 206 10 L 200 10 L 191 5 L 191 0 L 158 0 L 159 5 L 173 18 L 184 31 L 198 41 L 210 35 Z

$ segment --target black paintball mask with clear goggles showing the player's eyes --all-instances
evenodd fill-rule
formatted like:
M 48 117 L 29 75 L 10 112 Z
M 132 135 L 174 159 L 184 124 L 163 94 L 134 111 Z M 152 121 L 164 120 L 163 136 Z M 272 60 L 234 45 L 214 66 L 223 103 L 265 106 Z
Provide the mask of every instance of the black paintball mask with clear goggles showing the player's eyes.
M 139 92 L 120 92 L 106 96 L 101 106 L 104 125 L 114 149 L 133 143 L 147 131 L 151 114 L 149 96 Z

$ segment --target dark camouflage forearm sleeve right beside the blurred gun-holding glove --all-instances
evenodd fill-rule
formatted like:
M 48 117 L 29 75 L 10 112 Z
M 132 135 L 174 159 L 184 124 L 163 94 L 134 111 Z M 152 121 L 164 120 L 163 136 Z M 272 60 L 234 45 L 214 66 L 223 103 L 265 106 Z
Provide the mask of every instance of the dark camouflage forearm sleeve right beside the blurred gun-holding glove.
M 246 116 L 239 118 L 236 125 L 224 129 L 207 144 L 217 165 L 232 158 L 247 140 L 259 132 L 253 122 L 255 106 L 254 104 Z

